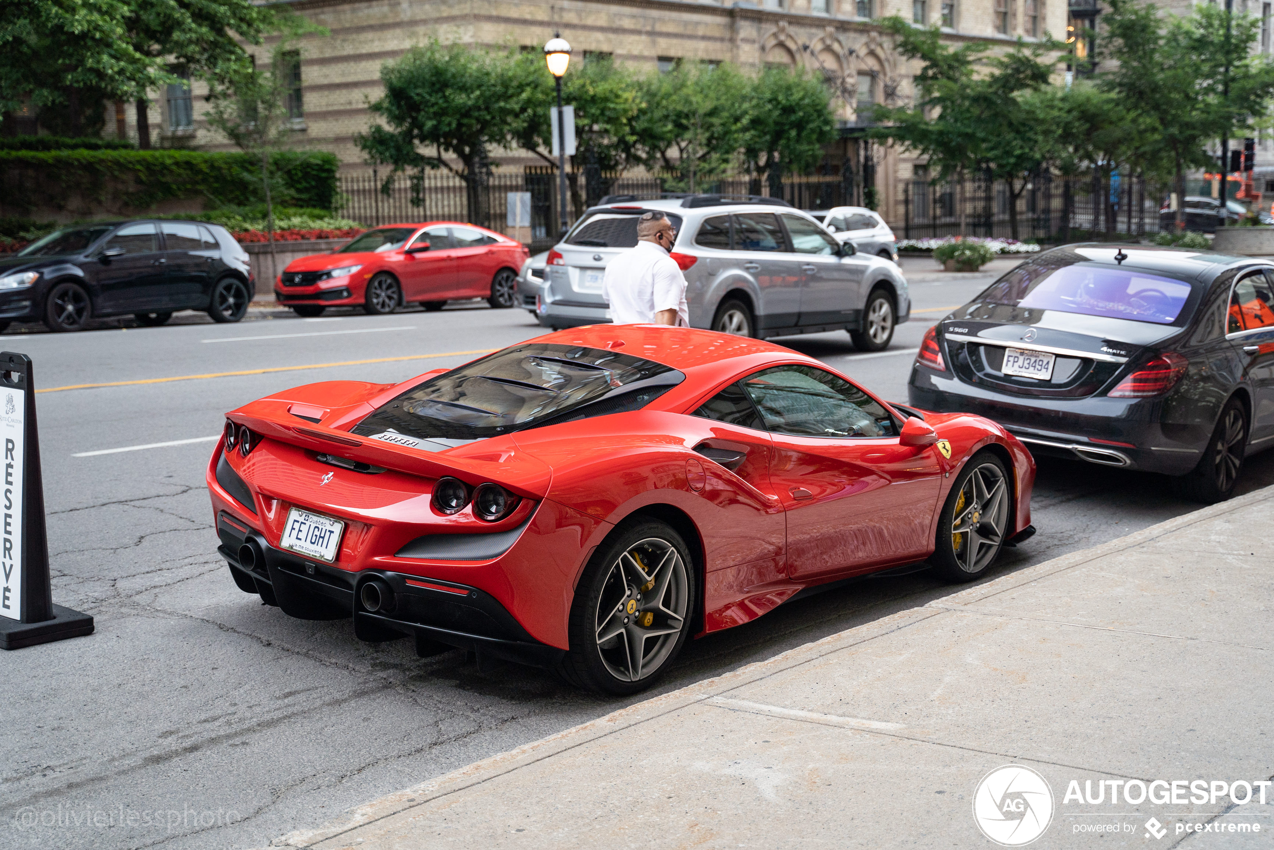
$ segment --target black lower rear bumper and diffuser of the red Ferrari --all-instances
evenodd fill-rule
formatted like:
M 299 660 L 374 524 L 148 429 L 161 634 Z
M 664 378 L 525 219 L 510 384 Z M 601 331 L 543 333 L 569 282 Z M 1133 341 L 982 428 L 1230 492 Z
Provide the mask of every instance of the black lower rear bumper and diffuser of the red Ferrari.
M 503 605 L 476 587 L 404 575 L 389 570 L 348 572 L 276 549 L 251 529 L 220 514 L 218 554 L 229 565 L 234 584 L 246 593 L 273 595 L 284 613 L 335 619 L 353 617 L 354 635 L 380 642 L 415 637 L 422 654 L 433 641 L 511 661 L 552 666 L 564 651 L 531 637 Z M 262 565 L 245 565 L 240 549 L 254 544 Z M 363 607 L 361 590 L 378 580 L 391 594 L 381 610 Z

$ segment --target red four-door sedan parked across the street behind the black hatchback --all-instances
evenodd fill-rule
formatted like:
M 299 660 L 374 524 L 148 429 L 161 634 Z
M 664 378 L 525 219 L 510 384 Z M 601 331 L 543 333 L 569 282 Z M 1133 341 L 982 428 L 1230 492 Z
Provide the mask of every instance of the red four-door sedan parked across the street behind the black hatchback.
M 386 224 L 331 254 L 288 264 L 274 297 L 299 316 L 354 306 L 376 316 L 406 303 L 442 310 L 452 298 L 512 307 L 517 270 L 529 256 L 521 242 L 476 224 Z

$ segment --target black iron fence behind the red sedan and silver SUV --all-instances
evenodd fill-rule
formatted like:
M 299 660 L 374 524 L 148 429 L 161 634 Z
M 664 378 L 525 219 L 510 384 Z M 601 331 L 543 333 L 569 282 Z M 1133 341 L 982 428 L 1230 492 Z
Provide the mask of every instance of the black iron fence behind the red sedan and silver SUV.
M 585 167 L 567 175 L 567 218 L 573 222 L 606 195 L 651 196 L 675 191 L 676 186 L 666 176 L 629 177 Z M 387 177 L 373 171 L 343 175 L 340 191 L 341 215 L 371 227 L 437 219 L 470 222 L 526 242 L 533 251 L 547 250 L 561 232 L 558 172 L 547 166 L 521 172 L 489 171 L 468 182 L 443 171 Z M 696 191 L 763 195 L 781 198 L 799 209 L 828 209 L 852 198 L 852 181 L 822 175 L 766 181 L 740 176 L 701 181 Z M 529 212 L 529 219 L 519 209 Z

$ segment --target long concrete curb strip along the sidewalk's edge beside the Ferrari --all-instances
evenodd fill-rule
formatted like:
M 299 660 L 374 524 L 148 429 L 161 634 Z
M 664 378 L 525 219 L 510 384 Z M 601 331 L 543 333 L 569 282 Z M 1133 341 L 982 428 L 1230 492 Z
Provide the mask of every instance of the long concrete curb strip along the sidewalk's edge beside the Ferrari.
M 424 805 L 438 798 L 456 794 L 468 788 L 473 788 L 474 785 L 511 774 L 520 767 L 534 765 L 558 753 L 576 747 L 582 747 L 599 738 L 637 726 L 648 720 L 655 720 L 685 706 L 721 696 L 758 679 L 782 673 L 784 670 L 832 655 L 840 650 L 907 628 L 931 617 L 958 610 L 962 607 L 1014 590 L 1055 573 L 1073 570 L 1098 558 L 1133 549 L 1180 529 L 1270 500 L 1274 500 L 1274 486 L 1254 491 L 1228 502 L 1212 505 L 1190 514 L 1184 514 L 1089 549 L 1071 552 L 1069 554 L 1045 561 L 1043 563 L 1026 567 L 1017 572 L 992 579 L 985 584 L 959 590 L 949 596 L 935 599 L 922 607 L 901 610 L 894 614 L 889 614 L 888 617 L 883 617 L 873 623 L 856 626 L 843 632 L 829 635 L 812 644 L 805 644 L 804 646 L 798 646 L 787 650 L 786 652 L 781 652 L 780 655 L 764 661 L 748 664 L 738 670 L 724 673 L 702 682 L 696 682 L 694 684 L 689 684 L 670 693 L 613 711 L 603 717 L 566 729 L 554 735 L 490 756 L 457 771 L 452 771 L 451 774 L 387 794 L 377 800 L 350 809 L 344 816 L 334 818 L 318 827 L 289 832 L 288 835 L 271 841 L 270 846 L 312 847 L 324 841 L 336 839 L 357 827 L 391 817 L 406 809 Z

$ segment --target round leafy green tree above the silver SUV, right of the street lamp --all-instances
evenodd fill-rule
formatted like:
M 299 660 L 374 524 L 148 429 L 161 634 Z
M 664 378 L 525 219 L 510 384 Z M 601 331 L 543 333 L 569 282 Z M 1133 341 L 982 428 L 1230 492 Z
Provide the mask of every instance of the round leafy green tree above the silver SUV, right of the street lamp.
M 734 65 L 680 62 L 640 80 L 643 108 L 632 122 L 636 154 L 670 187 L 696 189 L 736 164 L 747 120 L 748 80 Z

